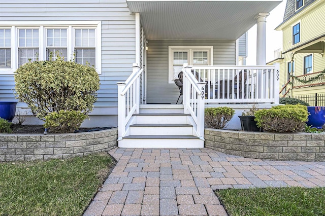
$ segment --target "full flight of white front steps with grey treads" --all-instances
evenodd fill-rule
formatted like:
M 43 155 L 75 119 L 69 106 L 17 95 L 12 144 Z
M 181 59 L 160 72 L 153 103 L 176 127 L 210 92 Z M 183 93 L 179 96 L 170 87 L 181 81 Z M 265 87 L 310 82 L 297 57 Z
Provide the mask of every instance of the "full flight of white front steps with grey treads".
M 204 140 L 193 130 L 190 115 L 182 105 L 149 104 L 140 106 L 132 117 L 120 148 L 203 148 Z

